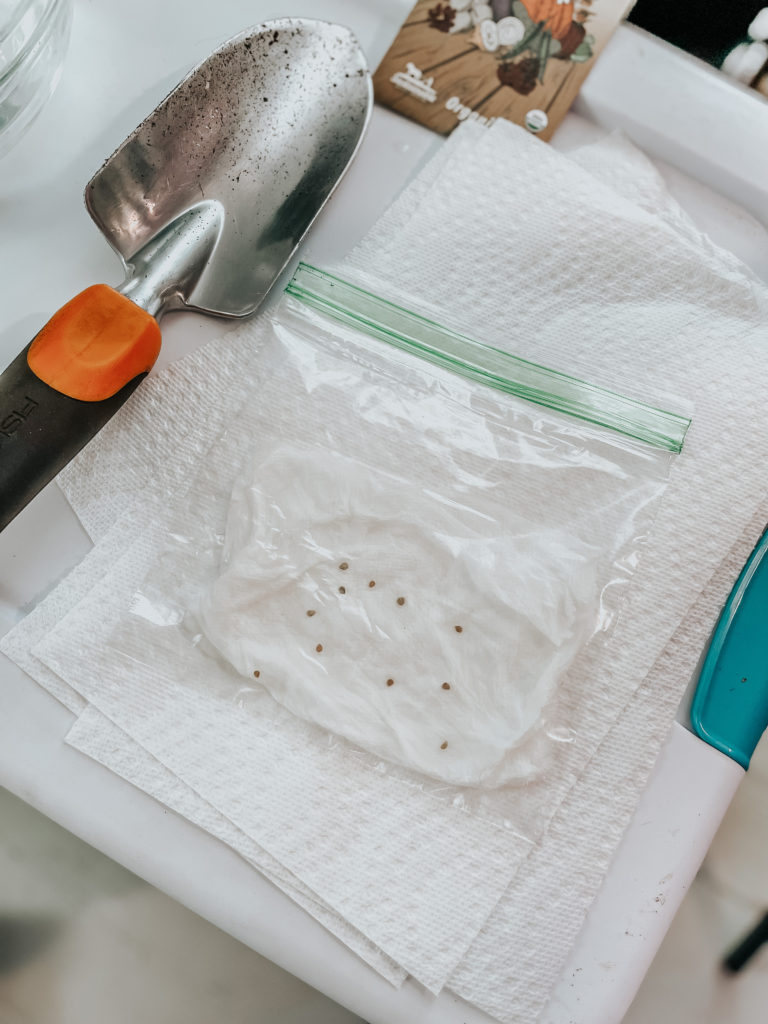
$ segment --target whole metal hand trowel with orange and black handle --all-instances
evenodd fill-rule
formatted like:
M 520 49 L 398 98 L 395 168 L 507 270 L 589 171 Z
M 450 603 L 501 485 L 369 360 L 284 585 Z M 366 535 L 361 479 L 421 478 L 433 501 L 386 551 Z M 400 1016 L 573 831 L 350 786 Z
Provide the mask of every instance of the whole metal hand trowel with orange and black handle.
M 125 263 L 62 306 L 0 376 L 0 529 L 123 404 L 170 309 L 248 316 L 359 144 L 371 112 L 354 37 L 281 18 L 199 65 L 86 186 Z

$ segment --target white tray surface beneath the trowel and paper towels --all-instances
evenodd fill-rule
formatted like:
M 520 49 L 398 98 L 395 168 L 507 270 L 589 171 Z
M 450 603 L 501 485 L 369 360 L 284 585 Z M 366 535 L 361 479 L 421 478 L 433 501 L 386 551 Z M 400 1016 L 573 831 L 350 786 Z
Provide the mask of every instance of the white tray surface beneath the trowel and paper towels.
M 374 68 L 410 6 L 410 0 L 133 0 L 130 5 L 75 0 L 59 87 L 28 135 L 0 161 L 0 365 L 73 294 L 94 282 L 121 280 L 117 257 L 85 212 L 83 187 L 191 65 L 249 25 L 294 14 L 348 25 Z M 768 236 L 723 198 L 768 218 L 768 104 L 624 28 L 588 80 L 577 110 L 588 120 L 570 116 L 554 144 L 568 147 L 589 139 L 597 133 L 595 124 L 624 127 L 649 155 L 669 162 L 658 166 L 700 226 L 768 279 Z M 302 255 L 322 265 L 346 252 L 438 144 L 425 129 L 377 112 L 358 158 Z M 167 317 L 160 365 L 226 328 L 191 314 Z M 45 488 L 0 535 L 0 632 L 54 587 L 89 547 L 55 485 Z M 488 1020 L 446 993 L 434 999 L 411 982 L 395 992 L 229 849 L 67 746 L 71 724 L 66 709 L 0 658 L 0 784 L 372 1024 Z M 719 755 L 713 759 L 715 752 L 679 727 L 671 749 L 643 804 L 641 820 L 647 827 L 640 828 L 636 816 L 630 852 L 623 848 L 606 883 L 607 896 L 598 900 L 563 974 L 551 1024 L 621 1019 L 621 1008 L 632 997 L 682 897 L 684 880 L 703 856 L 738 783 L 732 762 Z M 642 950 L 628 948 L 614 956 L 626 958 L 626 970 L 613 963 L 610 981 L 604 981 L 605 972 L 595 968 L 600 950 L 611 948 L 620 921 L 643 912 L 656 885 L 658 859 L 648 861 L 643 843 L 650 841 L 648 849 L 658 855 L 653 837 L 676 818 L 676 800 L 690 807 L 688 782 L 679 797 L 671 788 L 681 766 L 693 769 L 682 772 L 689 779 L 708 771 L 713 797 L 703 813 L 694 807 L 681 818 L 675 842 L 668 839 L 660 849 L 664 863 L 678 863 L 679 884 L 664 905 L 653 908 L 653 928 Z M 574 983 L 577 976 L 584 980 Z

